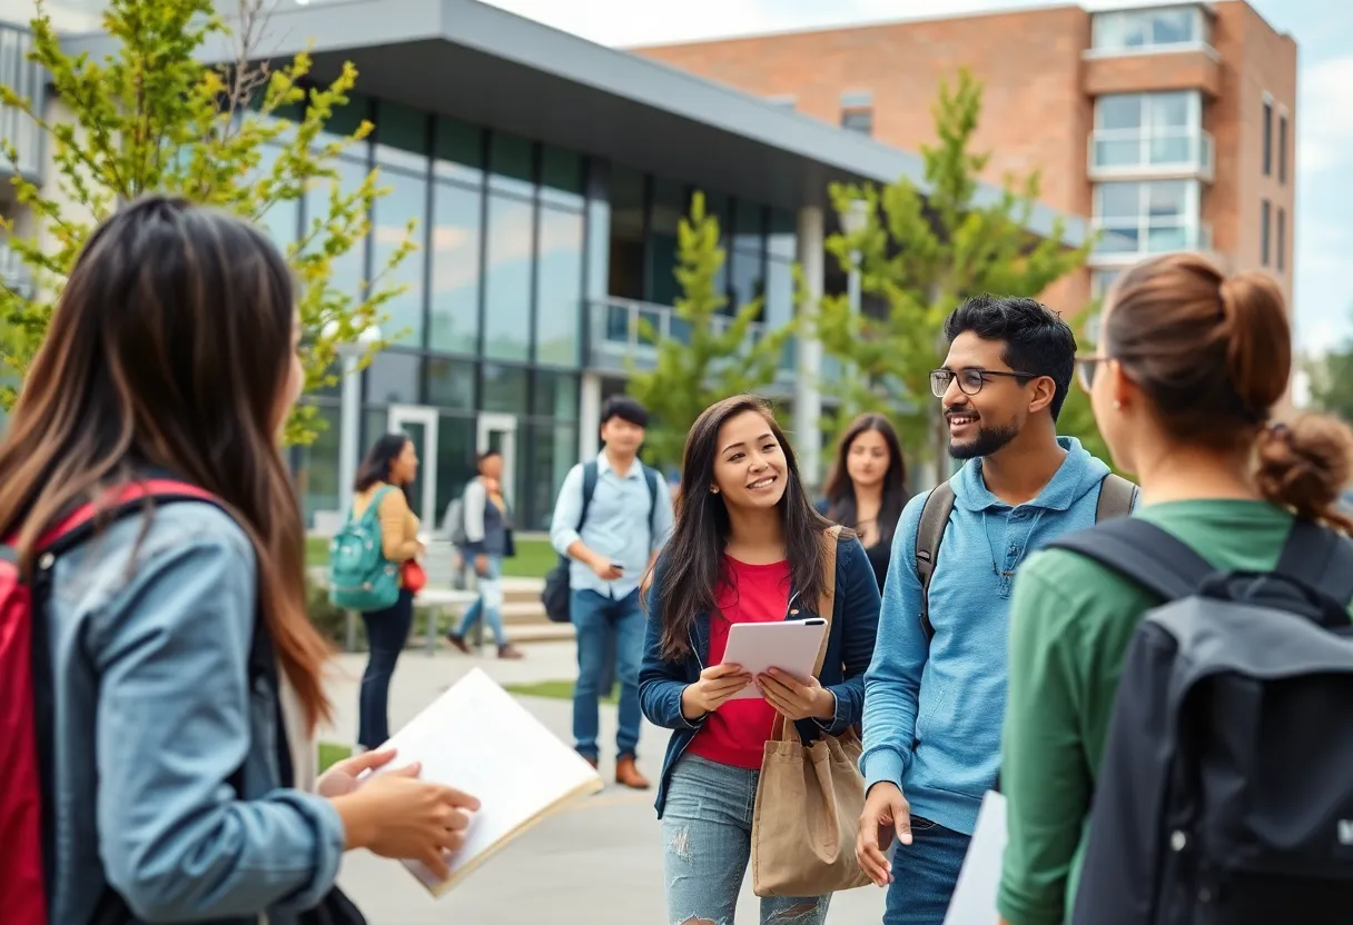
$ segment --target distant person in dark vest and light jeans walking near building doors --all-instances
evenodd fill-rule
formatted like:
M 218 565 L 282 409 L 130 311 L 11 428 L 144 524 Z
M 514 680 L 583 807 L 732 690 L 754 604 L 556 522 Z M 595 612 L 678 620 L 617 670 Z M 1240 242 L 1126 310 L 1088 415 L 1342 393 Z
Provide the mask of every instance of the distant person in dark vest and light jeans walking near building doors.
M 502 492 L 503 457 L 498 450 L 479 454 L 479 477 L 465 485 L 465 549 L 464 554 L 474 563 L 479 576 L 479 599 L 465 611 L 460 626 L 446 638 L 451 644 L 469 655 L 465 637 L 475 623 L 483 619 L 494 634 L 499 659 L 521 659 L 521 650 L 507 641 L 503 629 L 503 560 L 517 554 L 513 542 L 511 514 Z

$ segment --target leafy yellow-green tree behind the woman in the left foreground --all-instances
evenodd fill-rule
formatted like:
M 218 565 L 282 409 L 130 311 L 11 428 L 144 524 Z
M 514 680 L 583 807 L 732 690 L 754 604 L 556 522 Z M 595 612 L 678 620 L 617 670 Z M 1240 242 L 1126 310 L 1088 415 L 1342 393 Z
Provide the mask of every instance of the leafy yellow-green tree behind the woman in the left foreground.
M 14 222 L 5 222 L 9 245 L 34 283 L 0 288 L 0 318 L 8 329 L 0 350 L 11 375 L 22 380 L 93 227 L 146 192 L 179 195 L 257 222 L 279 203 L 296 201 L 333 180 L 327 201 L 317 204 L 319 197 L 310 196 L 302 238 L 285 247 L 299 288 L 307 391 L 337 383 L 336 346 L 377 323 L 382 306 L 399 295 L 399 287 L 383 280 L 414 249 L 413 223 L 388 264 L 357 292 L 330 284 L 334 261 L 365 238 L 372 204 L 384 189 L 372 172 L 357 189 L 342 191 L 329 164 L 369 135 L 372 124 L 363 122 L 346 138 L 321 135 L 334 108 L 348 103 L 357 80 L 350 64 L 327 87 L 307 87 L 307 54 L 279 66 L 256 62 L 265 3 L 239 0 L 230 28 L 211 0 L 111 0 L 103 27 L 119 50 L 92 61 L 62 51 L 38 0 L 30 60 L 50 73 L 57 108 L 68 115 L 38 111 L 0 85 L 0 103 L 32 119 L 45 135 L 54 174 L 47 189 L 19 176 L 19 154 L 5 142 L 18 199 L 35 224 L 31 235 L 18 237 Z M 222 41 L 231 43 L 234 60 L 203 65 L 203 46 Z M 12 406 L 15 389 L 0 399 Z M 287 435 L 310 442 L 321 425 L 315 408 L 300 407 Z

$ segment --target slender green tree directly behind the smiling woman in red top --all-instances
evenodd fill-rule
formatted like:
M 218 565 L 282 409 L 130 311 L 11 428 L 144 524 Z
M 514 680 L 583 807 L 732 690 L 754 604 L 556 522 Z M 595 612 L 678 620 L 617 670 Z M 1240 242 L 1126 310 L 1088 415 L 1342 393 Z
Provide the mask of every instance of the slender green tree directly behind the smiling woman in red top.
M 640 371 L 629 361 L 629 394 L 653 415 L 647 446 L 659 467 L 681 462 L 686 434 L 706 407 L 775 381 L 796 329 L 793 322 L 762 327 L 762 299 L 724 312 L 728 299 L 716 280 L 727 253 L 718 241 L 718 219 L 705 212 L 705 196 L 697 192 L 678 229 L 674 272 L 682 295 L 672 308 L 675 330 L 656 331 L 641 322 L 640 341 L 656 348 L 656 364 Z

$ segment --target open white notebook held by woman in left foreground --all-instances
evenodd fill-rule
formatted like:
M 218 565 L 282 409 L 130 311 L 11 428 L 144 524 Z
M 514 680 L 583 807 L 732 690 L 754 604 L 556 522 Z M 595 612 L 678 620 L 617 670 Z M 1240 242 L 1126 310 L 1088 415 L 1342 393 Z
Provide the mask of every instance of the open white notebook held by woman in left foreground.
M 479 668 L 382 748 L 399 749 L 394 767 L 422 761 L 425 780 L 463 790 L 482 803 L 448 879 L 438 882 L 423 864 L 405 861 L 434 897 L 570 799 L 602 788 L 587 761 Z

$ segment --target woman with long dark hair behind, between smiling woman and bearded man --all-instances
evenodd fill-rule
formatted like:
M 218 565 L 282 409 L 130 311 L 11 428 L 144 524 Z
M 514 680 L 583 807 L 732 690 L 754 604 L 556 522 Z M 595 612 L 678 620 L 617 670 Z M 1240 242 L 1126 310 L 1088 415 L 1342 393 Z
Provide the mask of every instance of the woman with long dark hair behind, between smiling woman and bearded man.
M 907 461 L 888 418 L 862 414 L 851 422 L 824 494 L 827 517 L 859 536 L 882 592 L 893 533 L 907 507 Z

